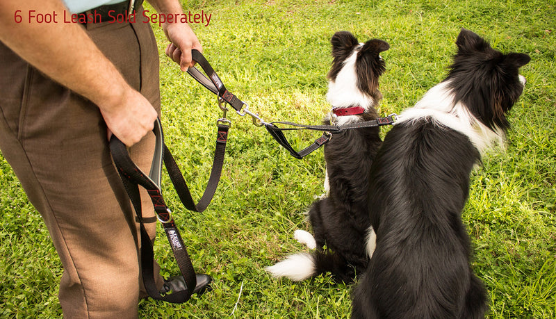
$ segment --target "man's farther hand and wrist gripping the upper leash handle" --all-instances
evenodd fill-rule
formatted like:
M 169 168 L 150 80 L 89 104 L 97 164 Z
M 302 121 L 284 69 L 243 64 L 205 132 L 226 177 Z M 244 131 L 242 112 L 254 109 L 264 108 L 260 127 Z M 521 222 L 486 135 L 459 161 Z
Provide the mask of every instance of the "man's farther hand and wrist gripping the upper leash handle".
M 149 0 L 149 3 L 158 13 L 165 15 L 183 13 L 178 0 Z M 170 44 L 166 48 L 166 55 L 178 63 L 183 72 L 187 71 L 188 67 L 193 67 L 191 50 L 202 51 L 203 48 L 190 26 L 181 23 L 165 23 L 162 28 L 166 38 L 170 40 Z

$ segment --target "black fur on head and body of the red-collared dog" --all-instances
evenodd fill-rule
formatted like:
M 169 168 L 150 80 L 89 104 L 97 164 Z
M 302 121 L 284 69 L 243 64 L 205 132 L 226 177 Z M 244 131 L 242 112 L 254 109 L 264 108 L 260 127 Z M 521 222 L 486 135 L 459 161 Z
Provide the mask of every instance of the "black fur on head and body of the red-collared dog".
M 336 70 L 341 69 L 357 45 L 357 39 L 350 33 L 336 33 L 332 38 L 334 64 L 329 72 L 330 81 L 336 81 Z M 378 79 L 386 70 L 379 54 L 387 49 L 386 42 L 370 40 L 359 51 L 356 62 L 357 87 L 372 97 L 375 105 L 382 99 Z M 360 115 L 360 121 L 377 118 L 375 105 Z M 334 135 L 325 145 L 329 193 L 314 202 L 309 211 L 317 243 L 313 253 L 316 275 L 331 272 L 336 279 L 350 282 L 367 267 L 365 245 L 370 226 L 367 189 L 370 165 L 381 144 L 379 128 L 372 127 L 347 130 Z M 325 245 L 328 250 L 322 250 Z

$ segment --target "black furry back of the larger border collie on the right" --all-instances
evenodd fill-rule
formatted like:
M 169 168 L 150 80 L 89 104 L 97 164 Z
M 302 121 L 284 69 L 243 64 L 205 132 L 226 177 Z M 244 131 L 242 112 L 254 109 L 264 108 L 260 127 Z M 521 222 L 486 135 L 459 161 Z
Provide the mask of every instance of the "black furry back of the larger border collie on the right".
M 466 136 L 427 119 L 387 134 L 369 188 L 377 249 L 354 291 L 352 318 L 483 316 L 486 294 L 459 219 L 479 156 Z M 466 313 L 466 299 L 481 306 Z

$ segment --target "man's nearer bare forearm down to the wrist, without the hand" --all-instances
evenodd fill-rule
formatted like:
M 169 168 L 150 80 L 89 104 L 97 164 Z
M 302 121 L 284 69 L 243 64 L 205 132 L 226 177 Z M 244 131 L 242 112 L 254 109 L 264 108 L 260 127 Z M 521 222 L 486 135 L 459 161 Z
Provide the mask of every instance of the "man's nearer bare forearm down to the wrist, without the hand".
M 37 8 L 49 13 L 66 10 L 60 0 L 1 0 L 0 40 L 51 79 L 100 108 L 116 107 L 129 85 L 79 24 L 16 23 L 16 10 Z

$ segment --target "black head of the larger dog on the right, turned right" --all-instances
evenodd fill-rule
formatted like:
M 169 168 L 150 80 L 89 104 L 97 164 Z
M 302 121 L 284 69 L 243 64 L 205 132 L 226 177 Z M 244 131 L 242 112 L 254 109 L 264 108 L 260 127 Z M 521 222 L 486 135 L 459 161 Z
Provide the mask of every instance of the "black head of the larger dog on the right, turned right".
M 507 112 L 523 92 L 525 77 L 519 68 L 530 61 L 527 54 L 502 54 L 472 31 L 461 29 L 457 54 L 450 66 L 450 89 L 477 120 L 492 131 L 509 127 Z

